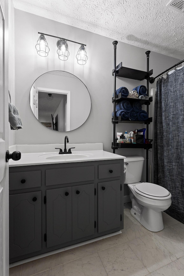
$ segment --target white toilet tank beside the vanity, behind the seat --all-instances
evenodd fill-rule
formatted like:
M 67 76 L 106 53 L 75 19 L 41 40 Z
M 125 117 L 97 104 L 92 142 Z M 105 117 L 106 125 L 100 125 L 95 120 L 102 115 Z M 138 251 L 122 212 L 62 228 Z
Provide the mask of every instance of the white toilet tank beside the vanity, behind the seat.
M 141 181 L 144 157 L 130 155 L 124 158 L 124 184 L 132 184 Z

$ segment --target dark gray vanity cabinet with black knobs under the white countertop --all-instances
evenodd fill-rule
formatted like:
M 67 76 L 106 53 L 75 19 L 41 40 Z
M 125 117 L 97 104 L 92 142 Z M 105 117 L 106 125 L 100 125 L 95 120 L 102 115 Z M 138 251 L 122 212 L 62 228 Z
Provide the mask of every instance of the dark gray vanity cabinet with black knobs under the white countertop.
M 9 173 L 10 263 L 123 229 L 123 159 Z

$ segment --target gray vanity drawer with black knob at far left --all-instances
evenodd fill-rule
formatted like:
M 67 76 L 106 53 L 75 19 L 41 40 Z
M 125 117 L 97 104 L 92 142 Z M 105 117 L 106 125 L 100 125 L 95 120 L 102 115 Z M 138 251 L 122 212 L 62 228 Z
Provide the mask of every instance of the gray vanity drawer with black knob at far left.
M 9 173 L 9 190 L 19 190 L 41 186 L 41 170 Z

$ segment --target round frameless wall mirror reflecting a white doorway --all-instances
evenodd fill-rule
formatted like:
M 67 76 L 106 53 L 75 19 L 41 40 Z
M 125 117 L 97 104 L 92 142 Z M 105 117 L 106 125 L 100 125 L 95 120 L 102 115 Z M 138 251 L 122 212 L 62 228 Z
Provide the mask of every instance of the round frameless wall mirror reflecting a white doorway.
M 87 120 L 91 97 L 84 83 L 65 71 L 39 76 L 29 94 L 34 116 L 48 129 L 71 131 Z

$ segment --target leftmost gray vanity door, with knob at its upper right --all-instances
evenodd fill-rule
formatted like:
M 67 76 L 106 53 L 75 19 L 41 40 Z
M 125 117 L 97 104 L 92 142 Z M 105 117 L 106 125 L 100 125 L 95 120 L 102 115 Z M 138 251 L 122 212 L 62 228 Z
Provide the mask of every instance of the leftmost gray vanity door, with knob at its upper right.
M 9 257 L 41 250 L 41 191 L 9 196 Z

